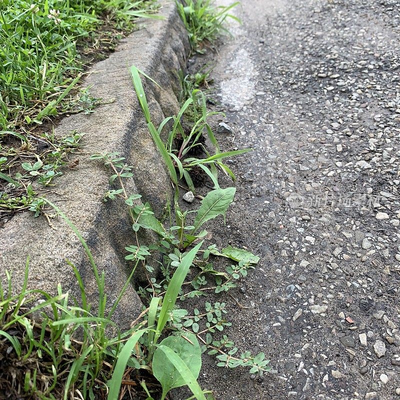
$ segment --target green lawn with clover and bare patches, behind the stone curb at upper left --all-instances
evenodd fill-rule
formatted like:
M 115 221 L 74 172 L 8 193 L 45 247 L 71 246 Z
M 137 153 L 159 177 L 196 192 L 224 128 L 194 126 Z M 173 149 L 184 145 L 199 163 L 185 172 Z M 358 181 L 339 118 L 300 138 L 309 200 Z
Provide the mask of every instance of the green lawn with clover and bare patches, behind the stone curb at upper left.
M 153 0 L 0 2 L 0 220 L 37 208 L 73 161 L 80 132 L 55 136 L 54 117 L 93 111 L 84 69 L 156 9 Z

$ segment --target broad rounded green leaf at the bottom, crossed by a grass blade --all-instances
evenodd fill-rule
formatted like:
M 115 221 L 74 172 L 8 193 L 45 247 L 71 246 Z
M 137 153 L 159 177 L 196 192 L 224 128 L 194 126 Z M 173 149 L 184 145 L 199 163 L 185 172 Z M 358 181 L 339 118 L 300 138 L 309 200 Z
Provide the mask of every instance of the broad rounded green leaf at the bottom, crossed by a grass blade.
M 186 364 L 194 378 L 198 377 L 201 368 L 201 349 L 196 336 L 193 333 L 182 333 L 187 340 L 180 334 L 166 337 L 160 345 L 171 348 Z M 162 385 L 162 392 L 165 395 L 174 387 L 186 384 L 186 379 L 178 372 L 174 364 L 167 355 L 157 347 L 154 351 L 152 369 L 154 376 Z

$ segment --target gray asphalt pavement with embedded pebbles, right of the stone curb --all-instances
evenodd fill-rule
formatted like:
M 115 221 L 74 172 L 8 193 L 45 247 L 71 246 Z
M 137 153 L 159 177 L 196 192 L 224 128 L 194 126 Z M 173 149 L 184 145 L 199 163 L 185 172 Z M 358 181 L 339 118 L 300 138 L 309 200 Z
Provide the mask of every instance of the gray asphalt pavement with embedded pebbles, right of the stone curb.
M 212 77 L 237 175 L 218 246 L 261 261 L 229 337 L 272 373 L 200 372 L 219 400 L 400 399 L 400 3 L 248 0 Z M 225 182 L 228 184 L 228 182 Z M 219 297 L 218 297 L 219 298 Z

